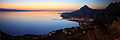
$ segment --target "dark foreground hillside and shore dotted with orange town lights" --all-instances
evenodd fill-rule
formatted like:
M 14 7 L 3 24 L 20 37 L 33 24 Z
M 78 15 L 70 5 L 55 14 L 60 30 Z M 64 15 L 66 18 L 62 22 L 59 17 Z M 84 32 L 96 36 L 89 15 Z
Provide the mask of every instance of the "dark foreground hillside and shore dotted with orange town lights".
M 72 15 L 65 14 L 69 16 L 68 20 L 79 23 L 77 27 L 52 31 L 46 35 L 11 36 L 0 31 L 0 40 L 120 40 L 120 2 L 111 3 L 104 10 L 89 12 L 99 14 L 89 17 L 79 16 L 81 12 L 78 11 L 72 12 L 76 13 Z

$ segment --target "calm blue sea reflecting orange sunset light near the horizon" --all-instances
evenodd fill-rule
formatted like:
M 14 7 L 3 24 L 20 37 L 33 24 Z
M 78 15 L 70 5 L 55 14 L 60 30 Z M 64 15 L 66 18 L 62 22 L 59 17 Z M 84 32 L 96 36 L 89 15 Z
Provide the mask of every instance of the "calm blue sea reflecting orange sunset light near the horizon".
M 48 34 L 51 31 L 78 26 L 61 20 L 63 12 L 0 12 L 0 30 L 13 36 Z

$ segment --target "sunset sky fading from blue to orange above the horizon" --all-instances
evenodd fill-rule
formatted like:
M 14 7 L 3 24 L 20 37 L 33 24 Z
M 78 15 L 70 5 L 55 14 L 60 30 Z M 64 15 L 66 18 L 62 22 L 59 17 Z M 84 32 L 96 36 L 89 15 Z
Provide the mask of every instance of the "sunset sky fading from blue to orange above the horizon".
M 103 9 L 111 0 L 0 0 L 0 8 L 24 10 L 77 10 L 88 5 Z

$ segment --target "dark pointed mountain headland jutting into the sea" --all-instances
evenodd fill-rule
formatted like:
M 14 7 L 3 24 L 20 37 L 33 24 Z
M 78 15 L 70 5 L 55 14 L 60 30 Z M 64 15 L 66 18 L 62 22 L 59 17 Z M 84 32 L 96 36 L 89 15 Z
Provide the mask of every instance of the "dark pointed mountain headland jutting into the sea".
M 64 18 L 71 18 L 71 17 L 86 18 L 88 16 L 92 17 L 93 15 L 97 15 L 97 12 L 99 11 L 103 11 L 103 9 L 91 9 L 87 5 L 84 5 L 79 10 L 73 11 L 71 13 L 63 13 L 61 16 Z

